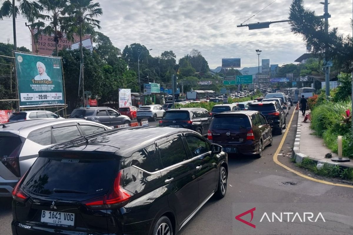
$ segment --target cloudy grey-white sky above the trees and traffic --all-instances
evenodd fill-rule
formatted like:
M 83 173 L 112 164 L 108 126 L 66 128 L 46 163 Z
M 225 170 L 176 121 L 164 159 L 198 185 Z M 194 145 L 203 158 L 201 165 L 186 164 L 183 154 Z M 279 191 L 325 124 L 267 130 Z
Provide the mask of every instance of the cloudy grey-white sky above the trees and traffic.
M 113 44 L 141 43 L 152 56 L 173 50 L 177 58 L 195 48 L 202 52 L 210 68 L 221 65 L 222 58 L 241 58 L 241 67 L 257 66 L 255 50 L 262 50 L 260 59 L 271 64 L 294 62 L 305 53 L 300 36 L 290 31 L 288 23 L 270 25 L 269 29 L 248 30 L 240 23 L 273 2 L 273 0 L 100 0 L 103 8 L 102 30 Z M 275 21 L 288 18 L 292 0 L 276 0 L 246 23 Z M 305 0 L 305 7 L 323 14 L 319 0 Z M 330 27 L 339 33 L 352 34 L 352 0 L 331 0 Z M 30 33 L 24 19 L 17 19 L 17 44 L 30 48 Z M 12 22 L 0 21 L 0 42 L 10 38 L 13 43 Z

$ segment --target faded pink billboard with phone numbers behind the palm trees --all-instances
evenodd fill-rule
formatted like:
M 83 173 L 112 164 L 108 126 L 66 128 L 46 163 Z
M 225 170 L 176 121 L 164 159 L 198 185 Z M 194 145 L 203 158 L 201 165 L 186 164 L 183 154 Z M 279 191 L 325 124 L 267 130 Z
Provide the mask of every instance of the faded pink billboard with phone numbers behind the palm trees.
M 33 29 L 32 33 L 33 34 L 37 33 L 37 29 Z M 31 38 L 32 38 L 32 52 L 33 53 L 37 53 L 36 50 L 38 49 L 37 54 L 51 55 L 53 53 L 53 51 L 55 50 L 54 36 L 48 36 L 48 35 L 44 35 L 44 34 L 40 35 L 38 38 L 38 42 L 37 42 L 37 48 L 36 48 L 36 44 L 34 42 L 33 36 L 31 36 Z M 62 35 L 62 38 L 59 39 L 58 50 L 60 51 L 61 49 L 64 49 L 64 48 L 71 49 L 71 46 L 74 43 L 77 43 L 77 45 L 78 45 L 79 41 L 80 41 L 80 36 L 78 34 L 74 33 L 73 38 L 74 38 L 74 42 L 67 40 L 66 35 L 64 33 Z M 91 36 L 84 35 L 82 37 L 83 41 L 85 41 L 86 39 L 89 39 L 89 41 L 91 41 Z M 82 44 L 85 46 L 85 44 L 87 44 L 88 42 L 83 43 L 83 41 L 82 41 Z M 91 43 L 91 45 L 92 45 L 92 43 Z M 88 49 L 90 49 L 90 48 L 88 48 Z

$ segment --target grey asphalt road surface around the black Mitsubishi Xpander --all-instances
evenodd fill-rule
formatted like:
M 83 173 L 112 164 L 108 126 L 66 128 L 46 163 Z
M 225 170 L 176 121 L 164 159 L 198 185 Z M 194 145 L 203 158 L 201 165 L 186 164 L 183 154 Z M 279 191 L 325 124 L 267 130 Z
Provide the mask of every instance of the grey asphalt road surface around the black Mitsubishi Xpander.
M 294 107 L 289 111 L 287 124 L 291 119 Z M 297 115 L 294 115 L 289 132 L 278 155 L 280 162 L 287 166 L 288 157 L 294 143 Z M 150 125 L 157 125 L 150 122 Z M 136 122 L 136 120 L 134 120 Z M 284 132 L 284 131 L 283 131 Z M 211 198 L 201 210 L 183 227 L 180 235 L 348 235 L 353 234 L 353 188 L 339 187 L 317 183 L 302 178 L 273 160 L 282 141 L 283 135 L 275 135 L 273 146 L 266 147 L 261 159 L 245 156 L 229 156 L 229 175 L 227 194 L 221 200 Z M 319 148 L 319 146 L 313 146 Z M 255 210 L 254 210 L 255 208 Z M 250 222 L 249 226 L 235 217 L 245 211 L 253 210 L 240 217 Z M 265 214 L 268 217 L 264 217 Z M 282 222 L 274 216 L 281 218 Z M 283 213 L 294 214 L 283 214 Z M 310 222 L 308 215 L 301 222 L 304 212 L 313 213 Z M 289 216 L 289 218 L 288 218 Z M 294 219 L 293 219 L 294 218 Z M 11 199 L 0 198 L 0 235 L 11 234 Z M 293 222 L 292 222 L 293 220 Z M 261 221 L 261 222 L 260 222 Z M 289 222 L 288 222 L 289 221 Z M 255 228 L 254 228 L 255 227 Z

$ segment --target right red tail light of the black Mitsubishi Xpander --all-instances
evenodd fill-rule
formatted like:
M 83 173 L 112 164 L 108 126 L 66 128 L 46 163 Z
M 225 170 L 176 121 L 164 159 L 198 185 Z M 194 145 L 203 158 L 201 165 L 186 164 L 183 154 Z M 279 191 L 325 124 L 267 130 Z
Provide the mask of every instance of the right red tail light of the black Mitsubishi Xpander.
M 110 188 L 109 192 L 101 197 L 94 198 L 83 202 L 90 209 L 110 209 L 122 207 L 127 204 L 131 198 L 131 193 L 122 188 L 122 172 L 119 171 L 114 180 L 114 185 Z

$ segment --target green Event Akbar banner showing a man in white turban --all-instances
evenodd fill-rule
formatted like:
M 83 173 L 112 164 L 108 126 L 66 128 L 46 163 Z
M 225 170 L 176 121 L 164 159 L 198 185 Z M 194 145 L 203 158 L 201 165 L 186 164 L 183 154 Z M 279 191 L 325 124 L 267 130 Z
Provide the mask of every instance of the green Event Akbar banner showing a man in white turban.
M 64 105 L 61 58 L 15 52 L 20 107 Z

